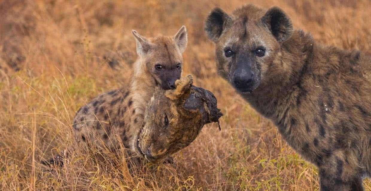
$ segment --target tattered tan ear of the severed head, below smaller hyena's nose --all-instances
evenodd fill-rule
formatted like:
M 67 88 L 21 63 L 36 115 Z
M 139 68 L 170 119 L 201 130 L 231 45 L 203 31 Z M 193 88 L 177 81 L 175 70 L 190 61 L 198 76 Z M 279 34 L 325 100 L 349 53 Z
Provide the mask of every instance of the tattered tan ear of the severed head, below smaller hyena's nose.
M 180 79 L 175 81 L 175 89 L 167 90 L 165 95 L 173 101 L 185 101 L 191 93 L 192 84 L 192 75 L 181 77 Z

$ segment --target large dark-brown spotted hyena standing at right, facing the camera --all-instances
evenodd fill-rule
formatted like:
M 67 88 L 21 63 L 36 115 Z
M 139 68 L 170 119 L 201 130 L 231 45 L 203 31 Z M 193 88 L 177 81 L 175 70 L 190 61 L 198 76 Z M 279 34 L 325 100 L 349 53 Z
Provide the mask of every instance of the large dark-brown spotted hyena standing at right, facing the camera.
M 319 168 L 321 190 L 363 190 L 371 172 L 371 57 L 316 43 L 278 7 L 216 8 L 217 68 Z

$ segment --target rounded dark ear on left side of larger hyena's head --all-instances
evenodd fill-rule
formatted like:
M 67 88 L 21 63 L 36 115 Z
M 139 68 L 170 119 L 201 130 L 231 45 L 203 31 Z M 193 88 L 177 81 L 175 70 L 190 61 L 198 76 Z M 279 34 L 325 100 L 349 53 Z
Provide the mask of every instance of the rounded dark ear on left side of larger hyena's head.
M 232 23 L 232 18 L 219 7 L 216 7 L 207 16 L 204 30 L 207 36 L 216 42 L 230 23 Z

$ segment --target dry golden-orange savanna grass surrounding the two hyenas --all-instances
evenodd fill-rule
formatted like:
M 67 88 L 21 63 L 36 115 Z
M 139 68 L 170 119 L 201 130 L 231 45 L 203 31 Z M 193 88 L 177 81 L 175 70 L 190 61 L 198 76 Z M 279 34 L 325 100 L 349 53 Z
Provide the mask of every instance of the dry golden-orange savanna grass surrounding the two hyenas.
M 203 21 L 214 6 L 247 1 L 0 1 L 0 190 L 292 190 L 314 191 L 318 171 L 216 73 Z M 251 0 L 280 6 L 296 29 L 321 43 L 371 53 L 367 0 Z M 76 110 L 125 86 L 144 36 L 188 29 L 184 73 L 211 90 L 224 113 L 171 164 L 130 174 L 125 155 L 76 148 L 63 168 L 39 164 L 73 148 Z M 364 181 L 365 190 L 371 182 Z

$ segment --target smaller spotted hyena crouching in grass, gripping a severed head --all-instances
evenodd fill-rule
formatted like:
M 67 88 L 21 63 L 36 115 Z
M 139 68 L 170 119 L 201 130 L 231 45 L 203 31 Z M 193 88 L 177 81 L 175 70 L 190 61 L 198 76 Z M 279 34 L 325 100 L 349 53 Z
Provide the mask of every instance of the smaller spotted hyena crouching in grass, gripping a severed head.
M 137 41 L 138 60 L 128 87 L 109 91 L 81 107 L 73 121 L 76 140 L 117 148 L 135 147 L 134 135 L 142 128 L 144 111 L 155 88 L 175 88 L 187 46 L 187 31 L 181 27 L 175 36 L 145 38 L 132 31 Z M 132 152 L 135 153 L 135 152 Z

